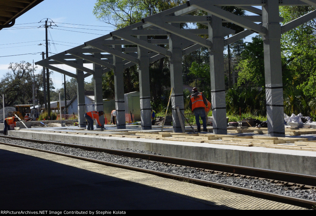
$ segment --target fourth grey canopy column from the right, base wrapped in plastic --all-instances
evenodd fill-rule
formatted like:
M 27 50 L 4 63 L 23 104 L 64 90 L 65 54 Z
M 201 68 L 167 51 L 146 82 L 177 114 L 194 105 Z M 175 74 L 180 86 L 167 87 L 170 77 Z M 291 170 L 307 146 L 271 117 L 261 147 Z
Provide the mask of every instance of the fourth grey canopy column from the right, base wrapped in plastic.
M 147 36 L 137 36 L 138 39 L 147 41 Z M 151 129 L 151 105 L 150 105 L 150 80 L 149 80 L 149 56 L 148 50 L 137 46 L 139 73 L 140 117 L 142 130 Z

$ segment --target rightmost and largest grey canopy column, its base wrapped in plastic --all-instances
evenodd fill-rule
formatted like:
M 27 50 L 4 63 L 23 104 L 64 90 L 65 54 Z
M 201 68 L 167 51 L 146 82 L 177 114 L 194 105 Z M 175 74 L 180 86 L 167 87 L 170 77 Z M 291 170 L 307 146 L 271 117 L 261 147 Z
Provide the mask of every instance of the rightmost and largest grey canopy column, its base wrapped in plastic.
M 265 96 L 269 137 L 285 137 L 281 63 L 279 3 L 267 0 L 262 7 L 262 23 L 268 33 L 262 36 L 264 48 Z

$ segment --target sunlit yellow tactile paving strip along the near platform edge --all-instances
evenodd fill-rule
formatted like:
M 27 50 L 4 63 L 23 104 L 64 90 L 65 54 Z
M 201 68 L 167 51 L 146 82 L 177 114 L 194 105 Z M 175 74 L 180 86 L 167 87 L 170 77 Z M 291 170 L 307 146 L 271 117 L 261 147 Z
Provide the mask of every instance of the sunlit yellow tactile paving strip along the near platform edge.
M 0 149 L 13 151 L 25 155 L 31 155 L 38 158 L 58 162 L 68 166 L 85 169 L 91 172 L 105 174 L 122 181 L 132 181 L 149 187 L 155 187 L 158 190 L 170 191 L 177 193 L 179 196 L 190 196 L 193 200 L 203 200 L 205 203 L 214 203 L 225 209 L 240 210 L 303 210 L 306 208 L 297 207 L 289 204 L 283 204 L 275 201 L 259 199 L 252 196 L 235 194 L 226 190 L 219 190 L 204 187 L 187 182 L 180 182 L 173 179 L 158 177 L 155 175 L 124 170 L 116 167 L 100 165 L 92 162 L 81 161 L 78 159 L 68 158 L 60 155 L 53 155 L 29 149 L 0 145 Z

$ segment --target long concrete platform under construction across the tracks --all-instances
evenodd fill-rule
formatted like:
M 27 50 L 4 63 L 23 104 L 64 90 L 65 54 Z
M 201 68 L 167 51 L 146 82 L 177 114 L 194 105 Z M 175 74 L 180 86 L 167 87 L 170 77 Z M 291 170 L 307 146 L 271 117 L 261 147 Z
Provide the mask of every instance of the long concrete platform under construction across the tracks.
M 172 130 L 171 127 L 164 128 L 164 131 L 170 130 Z M 190 128 L 188 127 L 186 130 L 190 131 Z M 66 126 L 20 129 L 19 131 L 8 131 L 8 134 L 17 137 L 63 141 L 66 143 L 78 143 L 102 148 L 141 149 L 154 151 L 170 157 L 316 176 L 316 151 L 106 136 L 107 134 L 119 134 L 127 131 L 142 130 L 140 126 L 132 125 L 126 126 L 124 130 L 118 130 L 113 125 L 107 125 L 104 131 L 100 129 L 87 131 L 77 126 Z M 161 131 L 161 126 L 153 126 L 152 130 L 146 130 L 148 133 L 158 131 Z M 242 135 L 251 136 L 253 134 L 244 133 Z M 315 136 L 310 135 L 302 135 L 300 137 L 306 137 L 311 140 L 315 139 Z

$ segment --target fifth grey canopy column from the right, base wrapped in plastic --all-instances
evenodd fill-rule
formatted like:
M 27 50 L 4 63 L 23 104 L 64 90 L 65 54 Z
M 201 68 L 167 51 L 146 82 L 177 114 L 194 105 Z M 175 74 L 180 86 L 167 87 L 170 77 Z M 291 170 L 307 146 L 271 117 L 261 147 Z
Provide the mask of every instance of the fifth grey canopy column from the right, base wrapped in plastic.
M 113 48 L 122 51 L 122 45 L 113 45 Z M 124 64 L 122 58 L 113 55 L 114 85 L 115 85 L 115 109 L 116 109 L 116 128 L 125 129 L 125 100 L 124 100 Z

